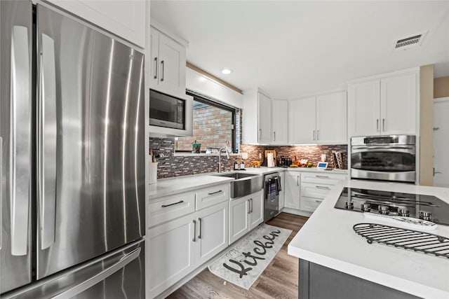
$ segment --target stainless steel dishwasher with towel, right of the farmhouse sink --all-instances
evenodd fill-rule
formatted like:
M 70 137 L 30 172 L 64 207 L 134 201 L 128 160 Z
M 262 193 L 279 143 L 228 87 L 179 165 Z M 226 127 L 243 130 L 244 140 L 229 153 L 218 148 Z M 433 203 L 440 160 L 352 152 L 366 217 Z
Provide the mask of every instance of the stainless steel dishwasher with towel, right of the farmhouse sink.
M 264 175 L 264 221 L 267 222 L 279 213 L 279 191 L 281 176 L 278 172 Z

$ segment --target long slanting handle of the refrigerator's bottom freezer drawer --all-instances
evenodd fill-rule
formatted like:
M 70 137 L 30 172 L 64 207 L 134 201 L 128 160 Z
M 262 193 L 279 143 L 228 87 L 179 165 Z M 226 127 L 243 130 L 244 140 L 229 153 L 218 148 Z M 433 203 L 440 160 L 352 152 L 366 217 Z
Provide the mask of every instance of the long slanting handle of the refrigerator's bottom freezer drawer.
M 58 295 L 55 295 L 52 297 L 52 299 L 65 299 L 65 298 L 72 298 L 79 293 L 86 291 L 91 286 L 95 286 L 95 284 L 98 284 L 100 281 L 103 281 L 107 279 L 107 277 L 111 276 L 115 272 L 121 270 L 123 267 L 131 263 L 133 260 L 138 258 L 140 256 L 141 248 L 134 249 L 130 253 L 126 254 L 126 256 L 123 256 L 118 262 L 114 263 L 110 267 L 107 267 L 105 270 L 102 270 L 102 272 L 93 275 L 92 277 L 86 279 L 85 281 L 81 282 L 81 284 L 78 284 L 72 288 L 69 288 L 67 291 L 60 293 Z

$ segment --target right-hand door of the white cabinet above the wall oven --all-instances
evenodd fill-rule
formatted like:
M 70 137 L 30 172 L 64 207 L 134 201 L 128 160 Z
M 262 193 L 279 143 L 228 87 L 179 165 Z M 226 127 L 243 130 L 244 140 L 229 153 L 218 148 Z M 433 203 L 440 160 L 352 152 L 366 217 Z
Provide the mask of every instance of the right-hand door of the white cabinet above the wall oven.
M 382 79 L 382 134 L 416 134 L 416 74 Z

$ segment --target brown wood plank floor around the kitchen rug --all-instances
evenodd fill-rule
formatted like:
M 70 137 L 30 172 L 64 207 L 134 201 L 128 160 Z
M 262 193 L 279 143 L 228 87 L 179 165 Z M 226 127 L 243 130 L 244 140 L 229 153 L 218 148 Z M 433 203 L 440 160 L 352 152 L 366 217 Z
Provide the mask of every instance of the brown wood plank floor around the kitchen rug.
M 281 213 L 267 222 L 293 232 L 249 290 L 225 281 L 206 269 L 167 298 L 297 298 L 298 260 L 287 254 L 287 246 L 306 221 L 307 217 Z

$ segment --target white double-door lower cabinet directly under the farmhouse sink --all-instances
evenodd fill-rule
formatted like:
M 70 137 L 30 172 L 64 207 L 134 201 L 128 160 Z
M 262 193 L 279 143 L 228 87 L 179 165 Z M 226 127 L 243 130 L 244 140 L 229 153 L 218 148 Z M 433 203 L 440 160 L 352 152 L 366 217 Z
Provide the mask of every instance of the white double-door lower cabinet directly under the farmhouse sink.
M 263 190 L 229 202 L 229 244 L 264 221 Z

